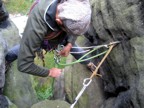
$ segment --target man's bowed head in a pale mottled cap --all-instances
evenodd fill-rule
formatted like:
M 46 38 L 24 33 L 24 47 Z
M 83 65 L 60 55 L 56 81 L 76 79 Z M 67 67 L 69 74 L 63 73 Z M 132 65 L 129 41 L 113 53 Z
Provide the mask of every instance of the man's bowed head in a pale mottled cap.
M 88 0 L 67 0 L 57 6 L 56 21 L 68 33 L 82 35 L 91 21 L 91 7 Z

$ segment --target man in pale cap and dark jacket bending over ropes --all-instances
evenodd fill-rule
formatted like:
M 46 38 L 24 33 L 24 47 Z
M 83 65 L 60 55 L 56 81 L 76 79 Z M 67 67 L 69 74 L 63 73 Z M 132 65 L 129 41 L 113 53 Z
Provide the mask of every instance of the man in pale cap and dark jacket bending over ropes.
M 20 48 L 17 48 L 18 70 L 41 77 L 59 77 L 61 69 L 47 69 L 34 64 L 35 52 L 39 48 L 49 51 L 61 43 L 65 45 L 59 53 L 61 56 L 68 56 L 70 51 L 83 51 L 72 46 L 77 46 L 77 36 L 88 30 L 90 21 L 91 8 L 88 0 L 40 0 L 29 14 Z M 72 55 L 76 59 L 83 56 Z M 82 63 L 93 65 L 90 61 Z

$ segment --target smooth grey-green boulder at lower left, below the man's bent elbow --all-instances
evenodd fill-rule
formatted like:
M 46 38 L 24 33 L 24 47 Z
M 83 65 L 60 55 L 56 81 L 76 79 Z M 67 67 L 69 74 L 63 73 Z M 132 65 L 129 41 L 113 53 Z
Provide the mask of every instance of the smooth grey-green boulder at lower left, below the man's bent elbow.
M 30 75 L 17 70 L 17 61 L 6 73 L 5 95 L 18 107 L 30 108 L 37 102 L 37 96 Z

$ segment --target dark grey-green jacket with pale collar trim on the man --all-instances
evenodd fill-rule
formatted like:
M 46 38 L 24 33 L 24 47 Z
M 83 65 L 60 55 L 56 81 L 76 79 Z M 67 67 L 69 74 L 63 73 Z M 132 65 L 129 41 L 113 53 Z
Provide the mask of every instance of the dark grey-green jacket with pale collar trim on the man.
M 18 69 L 21 72 L 46 77 L 49 70 L 34 64 L 35 52 L 40 48 L 44 38 L 52 31 L 58 31 L 60 28 L 55 22 L 55 13 L 58 0 L 41 0 L 31 11 L 29 15 L 23 37 L 21 40 L 20 51 L 18 55 Z M 63 34 L 67 35 L 66 33 Z M 51 45 L 56 45 L 63 36 L 58 36 L 49 40 Z M 68 42 L 74 43 L 75 37 L 69 36 Z

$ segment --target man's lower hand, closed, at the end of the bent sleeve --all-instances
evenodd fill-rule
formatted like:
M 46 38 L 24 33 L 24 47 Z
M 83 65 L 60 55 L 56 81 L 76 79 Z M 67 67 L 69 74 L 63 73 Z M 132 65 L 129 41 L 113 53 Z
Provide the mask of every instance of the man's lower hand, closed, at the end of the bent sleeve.
M 49 76 L 53 77 L 53 78 L 57 78 L 61 75 L 62 69 L 58 69 L 58 68 L 51 68 L 49 70 Z

